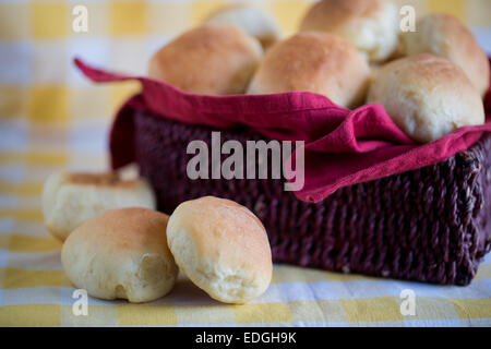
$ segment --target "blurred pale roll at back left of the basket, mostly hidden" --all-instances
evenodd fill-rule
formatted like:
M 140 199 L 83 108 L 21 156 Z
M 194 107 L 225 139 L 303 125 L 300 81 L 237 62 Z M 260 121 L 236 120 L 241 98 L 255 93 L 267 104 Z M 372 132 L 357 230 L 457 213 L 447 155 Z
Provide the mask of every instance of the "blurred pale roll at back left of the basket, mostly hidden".
M 237 25 L 255 37 L 264 49 L 271 47 L 280 37 L 275 20 L 267 12 L 244 3 L 219 8 L 206 17 L 205 23 Z

